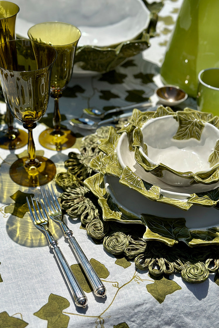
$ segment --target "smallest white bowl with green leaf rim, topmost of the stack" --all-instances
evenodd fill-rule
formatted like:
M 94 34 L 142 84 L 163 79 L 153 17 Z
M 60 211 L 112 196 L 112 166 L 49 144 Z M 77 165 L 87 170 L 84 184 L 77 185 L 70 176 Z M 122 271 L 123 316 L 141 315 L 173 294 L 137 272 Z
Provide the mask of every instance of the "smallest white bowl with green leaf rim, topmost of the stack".
M 197 111 L 178 111 L 147 117 L 132 132 L 136 162 L 167 184 L 190 186 L 219 181 L 218 117 L 200 117 Z M 210 118 L 210 119 L 209 119 Z M 122 160 L 122 143 L 117 146 Z M 124 156 L 123 156 L 124 157 Z M 144 174 L 141 176 L 143 179 Z

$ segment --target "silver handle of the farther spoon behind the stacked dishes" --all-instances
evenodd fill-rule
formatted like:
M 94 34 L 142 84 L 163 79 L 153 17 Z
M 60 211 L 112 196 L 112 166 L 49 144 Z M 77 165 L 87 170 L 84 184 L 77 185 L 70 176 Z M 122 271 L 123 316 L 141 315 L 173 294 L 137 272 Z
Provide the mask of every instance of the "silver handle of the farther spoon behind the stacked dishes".
M 144 109 L 144 108 L 147 108 L 150 106 L 151 106 L 150 102 L 144 101 L 142 103 L 132 104 L 132 105 L 124 106 L 124 107 L 113 108 L 113 109 L 110 109 L 109 111 L 103 111 L 103 110 L 99 110 L 96 108 L 85 108 L 85 109 L 83 109 L 83 112 L 92 117 L 105 118 L 107 116 L 111 116 L 111 114 L 113 114 L 113 113 L 122 114 L 127 111 L 131 111 L 134 108 Z

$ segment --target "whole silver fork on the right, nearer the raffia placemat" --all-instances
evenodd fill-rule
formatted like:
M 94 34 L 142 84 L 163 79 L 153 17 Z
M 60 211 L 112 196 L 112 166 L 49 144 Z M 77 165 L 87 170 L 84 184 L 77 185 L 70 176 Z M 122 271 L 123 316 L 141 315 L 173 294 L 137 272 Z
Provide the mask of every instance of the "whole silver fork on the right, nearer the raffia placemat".
M 58 222 L 61 225 L 62 230 L 64 232 L 64 236 L 68 238 L 69 244 L 72 250 L 74 251 L 74 254 L 77 256 L 78 261 L 80 262 L 86 276 L 90 281 L 94 294 L 96 296 L 105 297 L 107 291 L 106 287 L 103 285 L 103 282 L 98 277 L 94 268 L 90 264 L 90 261 L 88 260 L 87 256 L 84 254 L 77 240 L 73 236 L 72 230 L 69 229 L 69 227 L 63 220 L 62 209 L 52 186 L 51 186 L 52 194 L 50 192 L 49 186 L 48 186 L 48 193 L 46 192 L 44 187 L 40 188 L 40 190 L 48 215 L 52 220 Z

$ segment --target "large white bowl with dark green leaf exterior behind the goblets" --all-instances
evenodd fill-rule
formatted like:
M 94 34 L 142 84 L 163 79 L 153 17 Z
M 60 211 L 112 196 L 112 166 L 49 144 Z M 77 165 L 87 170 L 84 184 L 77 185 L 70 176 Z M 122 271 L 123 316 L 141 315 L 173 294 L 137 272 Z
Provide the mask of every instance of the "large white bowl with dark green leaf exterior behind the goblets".
M 17 0 L 16 4 L 17 37 L 28 37 L 31 26 L 48 21 L 79 28 L 74 74 L 81 76 L 109 72 L 146 50 L 163 5 L 143 0 Z

